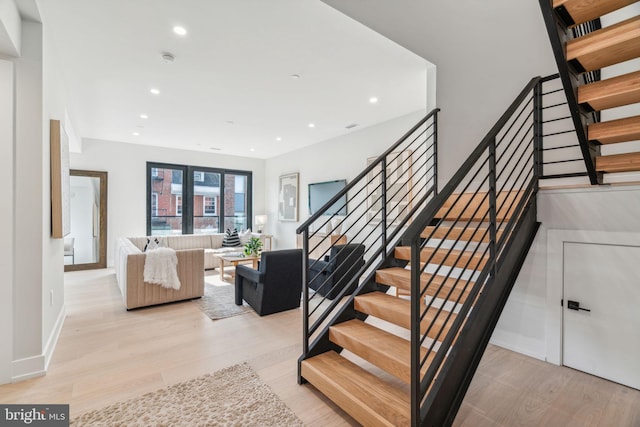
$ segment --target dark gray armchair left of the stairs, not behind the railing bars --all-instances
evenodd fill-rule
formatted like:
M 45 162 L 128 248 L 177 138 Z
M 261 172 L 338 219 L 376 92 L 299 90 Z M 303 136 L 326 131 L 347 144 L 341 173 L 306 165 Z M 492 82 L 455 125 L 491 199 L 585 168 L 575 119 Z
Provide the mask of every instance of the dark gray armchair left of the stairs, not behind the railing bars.
M 302 250 L 263 252 L 257 270 L 236 267 L 236 305 L 245 300 L 260 316 L 300 307 Z

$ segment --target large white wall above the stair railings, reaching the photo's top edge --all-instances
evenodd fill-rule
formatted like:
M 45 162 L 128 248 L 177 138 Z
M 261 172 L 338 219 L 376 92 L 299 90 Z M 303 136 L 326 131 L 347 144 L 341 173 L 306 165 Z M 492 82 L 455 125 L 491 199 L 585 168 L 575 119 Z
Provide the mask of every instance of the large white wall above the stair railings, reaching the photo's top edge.
M 534 0 L 323 1 L 436 65 L 441 185 L 532 77 L 557 72 Z

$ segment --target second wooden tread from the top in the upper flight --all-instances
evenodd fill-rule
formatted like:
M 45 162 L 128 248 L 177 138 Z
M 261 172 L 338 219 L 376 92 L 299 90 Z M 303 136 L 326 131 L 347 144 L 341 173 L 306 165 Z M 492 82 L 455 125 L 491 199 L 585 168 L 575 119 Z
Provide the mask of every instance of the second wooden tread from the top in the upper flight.
M 599 70 L 640 57 L 640 16 L 567 42 L 567 61 L 577 60 L 586 71 Z

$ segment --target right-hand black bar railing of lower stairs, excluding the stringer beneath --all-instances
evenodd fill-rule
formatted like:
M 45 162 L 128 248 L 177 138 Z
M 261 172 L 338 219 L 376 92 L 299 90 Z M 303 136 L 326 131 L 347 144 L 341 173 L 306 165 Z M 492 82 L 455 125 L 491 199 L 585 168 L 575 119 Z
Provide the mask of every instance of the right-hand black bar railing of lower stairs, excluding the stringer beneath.
M 501 273 L 508 248 L 535 202 L 539 83 L 540 78 L 529 82 L 402 236 L 411 246 L 414 425 L 422 424 L 432 409 L 438 392 L 434 385 L 441 385 L 444 380 L 438 383 L 438 378 L 447 375 L 447 358 L 469 313 L 494 309 L 475 304 L 484 287 Z M 425 324 L 427 316 L 432 320 Z

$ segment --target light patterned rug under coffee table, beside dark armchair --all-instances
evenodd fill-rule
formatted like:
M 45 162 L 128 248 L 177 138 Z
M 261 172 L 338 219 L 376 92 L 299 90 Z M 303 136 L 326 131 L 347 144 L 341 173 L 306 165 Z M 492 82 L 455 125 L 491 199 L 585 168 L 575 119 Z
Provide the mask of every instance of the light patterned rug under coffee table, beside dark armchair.
M 204 296 L 194 300 L 204 314 L 212 320 L 217 320 L 253 310 L 245 301 L 242 301 L 242 305 L 236 305 L 235 286 L 216 279 L 207 276 L 204 283 Z

